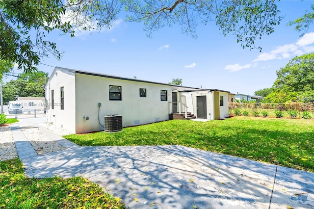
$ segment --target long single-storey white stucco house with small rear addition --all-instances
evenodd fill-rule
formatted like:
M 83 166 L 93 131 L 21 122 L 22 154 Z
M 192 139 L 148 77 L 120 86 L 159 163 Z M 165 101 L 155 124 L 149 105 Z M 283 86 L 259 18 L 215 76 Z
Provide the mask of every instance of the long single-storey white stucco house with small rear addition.
M 46 117 L 73 133 L 102 131 L 104 116 L 113 114 L 122 116 L 123 127 L 166 121 L 175 112 L 220 119 L 228 117 L 228 93 L 55 67 Z

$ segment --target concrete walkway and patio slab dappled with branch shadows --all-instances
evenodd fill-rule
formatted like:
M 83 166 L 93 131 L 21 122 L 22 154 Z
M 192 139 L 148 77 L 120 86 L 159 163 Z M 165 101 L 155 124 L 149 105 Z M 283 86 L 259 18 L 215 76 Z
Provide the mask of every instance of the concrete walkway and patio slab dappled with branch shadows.
M 313 173 L 183 146 L 79 147 L 39 130 L 68 149 L 37 155 L 12 125 L 26 176 L 83 176 L 130 209 L 314 209 Z

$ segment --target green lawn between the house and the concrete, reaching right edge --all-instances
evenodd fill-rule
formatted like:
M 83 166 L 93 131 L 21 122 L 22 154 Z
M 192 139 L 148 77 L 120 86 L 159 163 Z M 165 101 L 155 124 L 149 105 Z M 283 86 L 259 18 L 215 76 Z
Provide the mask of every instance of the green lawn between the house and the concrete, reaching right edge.
M 64 137 L 80 146 L 183 145 L 314 172 L 314 120 L 243 116 L 205 123 L 171 120 L 116 133 Z

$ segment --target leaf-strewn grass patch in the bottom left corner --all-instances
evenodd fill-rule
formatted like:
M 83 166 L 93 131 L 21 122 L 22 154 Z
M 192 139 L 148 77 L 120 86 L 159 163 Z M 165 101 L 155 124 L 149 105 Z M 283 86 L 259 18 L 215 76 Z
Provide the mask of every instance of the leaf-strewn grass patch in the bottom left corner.
M 18 158 L 0 162 L 0 208 L 125 209 L 121 199 L 81 177 L 26 178 Z

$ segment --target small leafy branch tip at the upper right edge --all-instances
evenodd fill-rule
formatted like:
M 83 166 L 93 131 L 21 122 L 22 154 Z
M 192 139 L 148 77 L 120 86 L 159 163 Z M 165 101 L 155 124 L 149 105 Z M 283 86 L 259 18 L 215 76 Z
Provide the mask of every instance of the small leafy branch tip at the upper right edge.
M 311 5 L 312 10 L 314 11 L 314 4 Z M 296 25 L 294 28 L 295 30 L 301 32 L 305 31 L 307 32 L 310 28 L 310 26 L 314 22 L 314 12 L 306 11 L 303 17 L 299 17 L 298 19 L 294 21 L 289 22 L 289 26 Z M 301 33 L 301 36 L 303 36 L 304 33 Z

